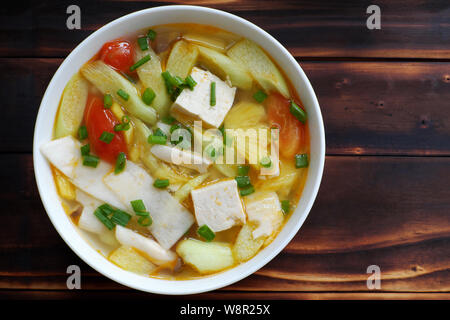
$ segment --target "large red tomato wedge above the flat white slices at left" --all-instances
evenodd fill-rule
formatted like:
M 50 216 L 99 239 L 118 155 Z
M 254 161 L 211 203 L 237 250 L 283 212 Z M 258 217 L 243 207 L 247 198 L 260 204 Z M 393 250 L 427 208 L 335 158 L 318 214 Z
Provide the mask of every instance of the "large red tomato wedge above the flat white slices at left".
M 127 153 L 127 144 L 121 131 L 114 131 L 120 122 L 109 109 L 103 107 L 103 100 L 97 96 L 89 96 L 84 113 L 84 122 L 88 131 L 91 150 L 109 163 L 115 163 L 120 152 Z M 103 132 L 114 134 L 110 143 L 100 140 Z

